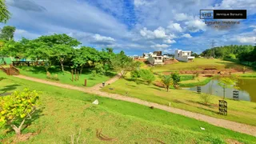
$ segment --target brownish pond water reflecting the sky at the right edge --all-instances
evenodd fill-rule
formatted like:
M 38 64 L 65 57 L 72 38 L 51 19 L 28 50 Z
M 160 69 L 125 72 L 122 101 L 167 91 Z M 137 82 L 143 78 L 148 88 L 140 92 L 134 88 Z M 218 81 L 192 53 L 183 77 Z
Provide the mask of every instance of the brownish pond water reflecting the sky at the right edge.
M 256 102 L 256 79 L 239 79 L 238 86 L 240 87 L 239 91 L 239 100 Z M 186 90 L 197 91 L 197 86 L 184 88 Z M 233 98 L 234 89 L 226 89 L 225 97 Z M 218 86 L 218 80 L 211 80 L 205 86 L 201 86 L 202 93 L 209 93 L 213 95 L 218 95 L 223 97 L 223 89 L 221 86 Z

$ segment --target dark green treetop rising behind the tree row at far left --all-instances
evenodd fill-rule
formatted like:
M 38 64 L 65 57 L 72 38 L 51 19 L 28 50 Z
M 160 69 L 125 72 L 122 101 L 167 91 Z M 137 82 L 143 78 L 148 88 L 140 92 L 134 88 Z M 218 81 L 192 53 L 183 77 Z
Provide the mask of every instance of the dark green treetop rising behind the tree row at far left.
M 14 26 L 3 26 L 0 34 L 0 39 L 10 41 L 14 39 L 14 32 L 16 28 Z

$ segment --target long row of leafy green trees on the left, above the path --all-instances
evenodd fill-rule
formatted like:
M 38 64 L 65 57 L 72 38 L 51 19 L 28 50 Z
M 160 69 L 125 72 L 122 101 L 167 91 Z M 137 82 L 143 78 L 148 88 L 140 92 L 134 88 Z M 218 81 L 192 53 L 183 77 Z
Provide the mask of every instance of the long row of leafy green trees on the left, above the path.
M 14 41 L 13 26 L 4 26 L 0 34 L 0 55 L 18 58 L 31 58 L 36 63 L 43 61 L 46 72 L 50 66 L 70 66 L 75 70 L 94 67 L 99 74 L 106 74 L 109 70 L 117 70 L 124 77 L 130 70 L 138 66 L 138 62 L 126 56 L 121 51 L 114 54 L 112 48 L 96 50 L 89 46 L 81 46 L 81 42 L 66 34 L 45 35 L 32 40 L 22 38 Z

